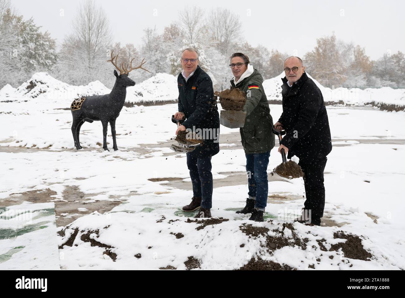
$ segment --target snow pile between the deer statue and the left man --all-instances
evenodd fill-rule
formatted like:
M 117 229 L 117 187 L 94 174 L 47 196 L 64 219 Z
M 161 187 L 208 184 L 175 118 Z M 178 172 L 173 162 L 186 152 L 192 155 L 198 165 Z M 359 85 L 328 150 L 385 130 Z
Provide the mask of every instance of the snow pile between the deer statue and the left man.
M 128 87 L 126 102 L 175 101 L 178 97 L 177 77 L 168 73 L 157 73 L 134 87 Z

